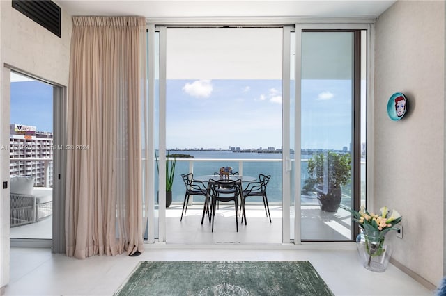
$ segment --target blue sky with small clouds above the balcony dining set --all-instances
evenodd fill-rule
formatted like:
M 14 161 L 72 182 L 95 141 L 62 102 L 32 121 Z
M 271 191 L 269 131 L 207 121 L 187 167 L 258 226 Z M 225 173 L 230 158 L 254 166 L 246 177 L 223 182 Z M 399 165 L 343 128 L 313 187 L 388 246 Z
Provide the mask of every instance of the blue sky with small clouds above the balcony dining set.
M 167 81 L 167 147 L 280 148 L 282 82 Z

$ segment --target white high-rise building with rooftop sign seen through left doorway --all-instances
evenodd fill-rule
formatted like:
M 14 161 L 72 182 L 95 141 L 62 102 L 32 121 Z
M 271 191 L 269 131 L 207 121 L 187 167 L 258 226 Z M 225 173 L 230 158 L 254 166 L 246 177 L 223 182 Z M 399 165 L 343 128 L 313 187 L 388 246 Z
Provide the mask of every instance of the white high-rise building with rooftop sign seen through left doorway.
M 10 125 L 10 176 L 35 176 L 34 186 L 52 187 L 53 135 L 36 126 Z

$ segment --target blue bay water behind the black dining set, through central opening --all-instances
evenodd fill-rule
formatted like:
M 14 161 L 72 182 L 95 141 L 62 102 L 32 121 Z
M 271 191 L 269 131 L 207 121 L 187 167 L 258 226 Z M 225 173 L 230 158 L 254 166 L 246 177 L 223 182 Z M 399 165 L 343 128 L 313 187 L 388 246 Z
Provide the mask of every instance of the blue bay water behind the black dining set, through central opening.
M 191 162 L 193 163 L 194 176 L 209 175 L 218 172 L 220 167 L 232 167 L 233 172 L 242 172 L 244 176 L 259 177 L 259 174 L 271 175 L 270 183 L 267 186 L 268 202 L 282 202 L 282 154 L 255 153 L 255 152 L 232 152 L 232 151 L 169 151 L 169 154 L 189 154 L 194 158 L 177 158 L 172 186 L 172 202 L 183 202 L 185 195 L 185 184 L 181 174 L 190 172 Z M 215 159 L 215 161 L 200 161 L 203 159 Z M 240 167 L 240 159 L 243 161 Z M 259 160 L 259 161 L 255 161 Z M 302 179 L 305 179 L 307 167 L 306 161 L 302 161 Z M 155 183 L 157 180 L 155 179 Z M 302 181 L 303 183 L 303 181 Z M 245 185 L 245 184 L 244 184 Z M 194 197 L 194 202 L 202 202 L 202 197 Z M 261 198 L 250 197 L 250 202 L 261 202 Z

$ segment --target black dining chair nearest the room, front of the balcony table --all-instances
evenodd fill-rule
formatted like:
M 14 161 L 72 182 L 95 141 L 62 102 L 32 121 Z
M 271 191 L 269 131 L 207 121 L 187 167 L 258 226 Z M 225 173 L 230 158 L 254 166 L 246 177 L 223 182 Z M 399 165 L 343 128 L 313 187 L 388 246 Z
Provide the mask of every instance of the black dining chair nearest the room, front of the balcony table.
M 213 180 L 209 179 L 208 197 L 211 202 L 211 222 L 212 232 L 214 232 L 215 211 L 217 202 L 234 202 L 236 209 L 236 229 L 238 232 L 238 197 L 242 194 L 242 182 L 240 179 L 234 180 Z M 204 212 L 203 212 L 204 215 Z M 203 224 L 203 219 L 201 220 Z

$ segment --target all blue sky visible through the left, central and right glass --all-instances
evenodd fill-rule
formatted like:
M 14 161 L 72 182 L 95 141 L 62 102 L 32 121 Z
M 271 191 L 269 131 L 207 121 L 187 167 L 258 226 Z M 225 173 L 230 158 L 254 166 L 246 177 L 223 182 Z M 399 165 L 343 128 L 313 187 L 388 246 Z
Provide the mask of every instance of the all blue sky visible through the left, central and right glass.
M 351 81 L 302 81 L 302 148 L 342 149 L 351 138 Z M 52 85 L 11 83 L 10 122 L 52 131 Z M 282 81 L 167 81 L 167 148 L 282 147 Z

